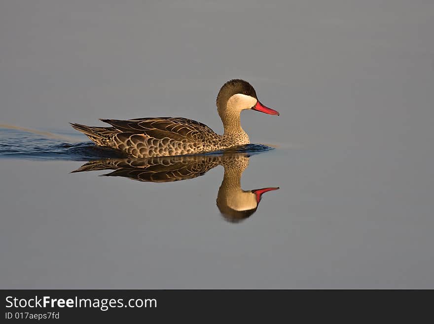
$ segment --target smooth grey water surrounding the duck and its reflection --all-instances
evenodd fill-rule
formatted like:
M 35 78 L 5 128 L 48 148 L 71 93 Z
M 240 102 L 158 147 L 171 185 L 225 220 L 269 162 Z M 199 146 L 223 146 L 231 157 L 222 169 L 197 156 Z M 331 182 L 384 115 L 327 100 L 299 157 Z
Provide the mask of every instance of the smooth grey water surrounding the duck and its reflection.
M 2 1 L 0 287 L 434 288 L 433 15 L 424 0 Z M 231 78 L 281 113 L 242 113 L 275 147 L 242 188 L 280 187 L 244 220 L 216 204 L 221 166 L 71 173 L 111 156 L 68 122 L 221 133 Z

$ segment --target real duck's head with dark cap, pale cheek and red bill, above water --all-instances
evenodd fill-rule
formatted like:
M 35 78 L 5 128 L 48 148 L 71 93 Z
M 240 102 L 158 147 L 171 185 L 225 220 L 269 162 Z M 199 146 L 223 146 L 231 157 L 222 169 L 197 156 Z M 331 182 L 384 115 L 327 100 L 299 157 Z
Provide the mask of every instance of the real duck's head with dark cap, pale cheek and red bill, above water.
M 253 86 L 241 79 L 234 79 L 226 82 L 220 88 L 217 95 L 217 111 L 220 118 L 224 120 L 227 114 L 240 113 L 245 109 L 253 109 L 279 115 L 279 112 L 262 105 L 256 96 Z

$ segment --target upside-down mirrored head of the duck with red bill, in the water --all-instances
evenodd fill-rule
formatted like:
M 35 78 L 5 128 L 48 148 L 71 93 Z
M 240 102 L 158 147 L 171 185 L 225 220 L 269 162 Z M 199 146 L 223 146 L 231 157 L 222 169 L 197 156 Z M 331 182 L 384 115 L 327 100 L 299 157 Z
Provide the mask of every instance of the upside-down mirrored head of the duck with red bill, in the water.
M 237 223 L 256 212 L 263 193 L 277 189 L 279 189 L 279 187 L 249 191 L 239 189 L 235 192 L 231 191 L 229 194 L 223 192 L 223 190 L 219 190 L 217 195 L 217 207 L 226 220 Z

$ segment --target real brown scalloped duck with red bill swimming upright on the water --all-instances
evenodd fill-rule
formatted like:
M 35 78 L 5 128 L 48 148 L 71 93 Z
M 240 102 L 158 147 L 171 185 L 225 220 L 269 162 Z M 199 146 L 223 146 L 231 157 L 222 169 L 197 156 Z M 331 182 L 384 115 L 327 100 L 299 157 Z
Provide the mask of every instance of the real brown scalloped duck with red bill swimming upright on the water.
M 110 127 L 70 124 L 99 146 L 118 150 L 126 157 L 145 158 L 206 153 L 249 144 L 249 136 L 241 127 L 241 111 L 252 109 L 280 115 L 262 105 L 253 86 L 242 79 L 224 83 L 216 104 L 223 123 L 223 135 L 205 124 L 183 117 L 100 119 Z

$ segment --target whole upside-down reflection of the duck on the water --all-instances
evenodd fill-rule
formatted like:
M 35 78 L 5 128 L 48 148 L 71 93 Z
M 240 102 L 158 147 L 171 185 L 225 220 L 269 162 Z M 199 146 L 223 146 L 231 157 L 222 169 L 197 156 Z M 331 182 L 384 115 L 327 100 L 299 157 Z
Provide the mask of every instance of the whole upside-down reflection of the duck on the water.
M 256 211 L 263 193 L 279 189 L 241 189 L 241 176 L 249 165 L 247 153 L 105 159 L 88 162 L 72 172 L 114 170 L 104 176 L 147 182 L 171 182 L 203 176 L 217 165 L 224 168 L 223 181 L 217 194 L 217 207 L 228 221 L 238 222 L 251 216 Z

